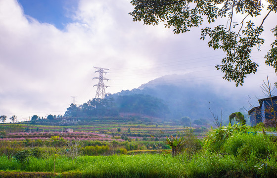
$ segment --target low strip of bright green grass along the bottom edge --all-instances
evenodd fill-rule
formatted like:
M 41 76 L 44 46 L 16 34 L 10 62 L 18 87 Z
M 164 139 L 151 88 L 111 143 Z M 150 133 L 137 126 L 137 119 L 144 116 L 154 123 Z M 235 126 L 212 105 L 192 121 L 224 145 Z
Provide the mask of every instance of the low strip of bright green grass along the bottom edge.
M 262 162 L 255 155 L 244 162 L 233 155 L 199 152 L 188 158 L 185 155 L 113 155 L 81 156 L 76 164 L 66 157 L 56 163 L 57 178 L 274 178 L 277 159 Z M 9 161 L 0 157 L 1 178 L 52 177 L 53 160 L 29 158 L 27 162 Z M 20 173 L 22 172 L 22 173 Z M 33 172 L 33 173 L 28 173 Z M 36 172 L 36 173 L 34 173 Z

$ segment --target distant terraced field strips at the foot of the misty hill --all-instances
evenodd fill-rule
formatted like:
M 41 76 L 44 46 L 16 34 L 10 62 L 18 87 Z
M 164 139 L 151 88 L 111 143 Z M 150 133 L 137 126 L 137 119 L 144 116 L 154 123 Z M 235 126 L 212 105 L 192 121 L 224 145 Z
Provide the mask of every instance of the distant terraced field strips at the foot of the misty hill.
M 208 131 L 206 127 L 193 128 L 195 134 L 203 137 Z M 94 138 L 118 138 L 118 136 L 128 136 L 132 138 L 142 139 L 144 137 L 161 138 L 170 135 L 176 135 L 184 129 L 181 123 L 173 122 L 151 122 L 150 119 L 119 119 L 119 118 L 91 118 L 82 120 L 66 120 L 55 119 L 54 121 L 37 121 L 32 122 L 22 122 L 20 124 L 5 124 L 0 125 L 0 131 L 5 131 L 5 138 L 17 137 L 20 135 L 23 137 L 49 137 L 52 133 L 59 134 L 64 133 L 65 129 L 73 129 L 74 134 L 78 137 L 94 137 Z M 12 134 L 14 133 L 14 134 Z M 28 134 L 30 133 L 30 134 Z M 92 135 L 93 134 L 93 135 Z M 45 136 L 43 136 L 45 135 Z M 72 133 L 63 134 L 62 137 L 68 135 L 73 137 Z M 83 135 L 83 136 L 82 136 Z

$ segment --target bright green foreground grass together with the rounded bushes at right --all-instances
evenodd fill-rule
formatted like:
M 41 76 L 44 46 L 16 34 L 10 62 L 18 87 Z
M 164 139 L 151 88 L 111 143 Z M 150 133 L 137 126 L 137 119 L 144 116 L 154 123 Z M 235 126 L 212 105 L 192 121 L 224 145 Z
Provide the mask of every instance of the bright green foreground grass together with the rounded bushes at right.
M 7 145 L 2 146 L 0 178 L 52 178 L 54 158 L 56 178 L 276 178 L 277 137 L 256 133 L 257 129 L 236 124 L 214 129 L 202 140 L 191 132 L 172 137 L 173 143 L 185 139 L 175 157 L 83 154 L 74 164 L 68 154 L 50 153 L 46 147 L 28 147 L 14 154 Z

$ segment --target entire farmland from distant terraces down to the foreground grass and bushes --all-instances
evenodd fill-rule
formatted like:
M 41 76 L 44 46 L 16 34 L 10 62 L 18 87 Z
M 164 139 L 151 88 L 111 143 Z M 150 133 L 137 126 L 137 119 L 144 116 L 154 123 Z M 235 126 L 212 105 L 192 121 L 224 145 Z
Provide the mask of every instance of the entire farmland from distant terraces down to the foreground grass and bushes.
M 263 125 L 212 130 L 139 123 L 32 128 L 30 124 L 0 126 L 1 178 L 277 176 L 276 138 L 255 134 L 275 129 Z M 74 132 L 60 132 L 65 128 Z M 182 139 L 183 147 L 175 147 Z M 173 155 L 173 148 L 179 153 Z

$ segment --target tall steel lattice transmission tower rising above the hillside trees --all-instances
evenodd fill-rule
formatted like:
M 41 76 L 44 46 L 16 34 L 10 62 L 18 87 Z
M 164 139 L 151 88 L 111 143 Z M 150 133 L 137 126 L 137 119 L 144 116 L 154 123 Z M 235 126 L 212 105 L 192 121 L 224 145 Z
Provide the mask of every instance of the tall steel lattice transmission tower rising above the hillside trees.
M 96 90 L 96 95 L 95 98 L 104 98 L 106 91 L 105 89 L 108 87 L 104 84 L 103 80 L 109 81 L 109 79 L 106 79 L 105 77 L 103 77 L 103 73 L 107 74 L 108 72 L 106 72 L 105 70 L 109 70 L 109 69 L 105 69 L 105 68 L 100 68 L 100 67 L 94 67 L 95 69 L 97 69 L 96 72 L 99 72 L 99 77 L 94 77 L 92 79 L 99 79 L 98 84 L 94 85 L 97 86 L 97 90 Z M 93 86 L 93 87 L 94 87 Z

